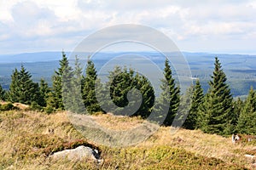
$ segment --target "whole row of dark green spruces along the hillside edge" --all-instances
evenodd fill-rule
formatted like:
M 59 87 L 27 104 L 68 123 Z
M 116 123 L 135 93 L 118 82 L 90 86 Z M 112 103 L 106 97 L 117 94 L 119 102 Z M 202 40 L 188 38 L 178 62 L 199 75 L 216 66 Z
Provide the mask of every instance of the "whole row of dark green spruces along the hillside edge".
M 39 83 L 33 82 L 30 72 L 21 65 L 20 71 L 13 71 L 8 91 L 0 85 L 0 99 L 31 105 L 33 109 L 47 113 L 68 109 L 82 114 L 101 111 L 112 112 L 114 115 L 141 116 L 162 126 L 172 126 L 174 117 L 179 115 L 177 119 L 185 118 L 183 127 L 188 129 L 201 129 L 205 133 L 220 135 L 256 134 L 256 91 L 251 88 L 244 101 L 233 99 L 218 58 L 215 58 L 207 93 L 203 93 L 200 80 L 197 79 L 183 95 L 172 77 L 172 68 L 166 59 L 163 71 L 165 78 L 161 80 L 162 93 L 159 97 L 155 97 L 154 88 L 147 77 L 132 68 L 116 66 L 109 72 L 108 82 L 103 84 L 97 78 L 96 67 L 90 59 L 87 61 L 85 75 L 77 57 L 74 68 L 70 66 L 64 52 L 59 63 L 59 68 L 52 76 L 52 87 L 43 78 Z M 101 94 L 101 103 L 96 92 Z M 132 93 L 131 98 L 127 97 L 129 93 Z M 79 95 L 81 98 L 78 98 Z M 107 100 L 107 95 L 111 99 Z M 137 111 L 132 112 L 138 96 L 141 96 L 142 103 Z M 117 107 L 111 107 L 112 103 Z M 106 106 L 104 110 L 102 105 Z M 127 105 L 128 109 L 123 110 Z

